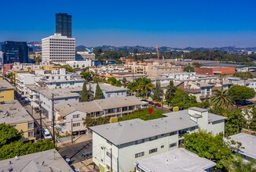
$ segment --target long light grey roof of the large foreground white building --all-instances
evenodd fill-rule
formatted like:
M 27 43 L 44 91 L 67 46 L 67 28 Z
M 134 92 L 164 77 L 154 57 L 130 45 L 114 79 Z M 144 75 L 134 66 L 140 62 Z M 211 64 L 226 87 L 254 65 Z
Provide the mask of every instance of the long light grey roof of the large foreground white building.
M 108 99 L 105 99 L 108 100 Z M 197 108 L 194 108 L 197 109 Z M 203 111 L 205 109 L 198 109 Z M 122 145 L 134 142 L 143 138 L 150 138 L 155 135 L 179 131 L 189 127 L 197 127 L 198 124 L 190 120 L 188 109 L 174 113 L 165 113 L 166 117 L 155 120 L 133 119 L 115 124 L 104 124 L 90 127 L 92 131 L 115 145 Z M 209 121 L 225 120 L 226 117 L 208 113 Z M 136 134 L 134 134 L 136 133 Z

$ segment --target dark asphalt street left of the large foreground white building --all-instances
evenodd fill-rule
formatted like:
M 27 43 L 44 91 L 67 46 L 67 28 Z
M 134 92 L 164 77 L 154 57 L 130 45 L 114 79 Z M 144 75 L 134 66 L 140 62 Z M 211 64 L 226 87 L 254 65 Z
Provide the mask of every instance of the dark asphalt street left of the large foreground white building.
M 81 142 L 75 145 L 69 145 L 59 150 L 61 156 L 64 159 L 69 158 L 71 159 L 70 164 L 72 163 L 79 163 L 82 161 L 82 153 L 83 152 L 93 152 L 93 142 Z

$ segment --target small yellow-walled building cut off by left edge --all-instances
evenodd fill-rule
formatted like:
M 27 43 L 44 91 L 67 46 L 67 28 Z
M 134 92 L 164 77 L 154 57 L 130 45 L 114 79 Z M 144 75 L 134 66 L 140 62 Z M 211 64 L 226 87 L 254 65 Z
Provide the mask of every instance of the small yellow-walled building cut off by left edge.
M 14 88 L 8 81 L 0 81 L 0 102 L 14 100 Z

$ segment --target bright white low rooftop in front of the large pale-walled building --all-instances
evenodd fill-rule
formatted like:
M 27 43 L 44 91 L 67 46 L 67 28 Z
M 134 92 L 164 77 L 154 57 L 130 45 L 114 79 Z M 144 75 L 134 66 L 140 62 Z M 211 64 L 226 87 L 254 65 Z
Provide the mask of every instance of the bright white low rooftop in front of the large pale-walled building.
M 203 172 L 216 165 L 216 163 L 205 158 L 200 158 L 195 153 L 182 148 L 164 152 L 157 156 L 151 156 L 139 160 L 134 164 L 137 164 L 137 167 L 140 167 L 145 172 Z

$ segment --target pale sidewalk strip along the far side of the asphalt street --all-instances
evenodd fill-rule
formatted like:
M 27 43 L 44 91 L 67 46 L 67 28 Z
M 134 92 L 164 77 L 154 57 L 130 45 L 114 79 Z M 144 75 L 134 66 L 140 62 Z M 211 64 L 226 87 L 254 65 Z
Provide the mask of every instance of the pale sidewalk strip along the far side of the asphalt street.
M 75 136 L 73 136 L 73 143 L 71 143 L 71 136 L 68 136 L 65 138 L 59 138 L 59 139 L 60 139 L 60 142 L 57 142 L 57 146 L 60 148 L 63 148 L 68 145 L 91 141 L 93 139 L 93 135 L 91 135 L 91 134 L 90 135 L 86 135 L 86 134 L 75 135 Z

